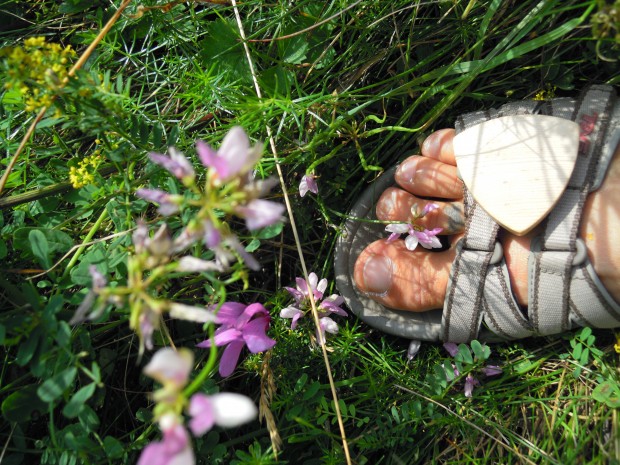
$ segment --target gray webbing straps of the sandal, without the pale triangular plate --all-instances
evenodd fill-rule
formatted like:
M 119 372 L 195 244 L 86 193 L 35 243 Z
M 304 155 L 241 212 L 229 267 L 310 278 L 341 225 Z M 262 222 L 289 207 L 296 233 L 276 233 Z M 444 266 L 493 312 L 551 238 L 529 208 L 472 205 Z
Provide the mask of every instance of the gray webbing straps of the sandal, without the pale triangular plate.
M 579 168 L 575 167 L 567 190 L 545 220 L 543 239 L 533 244 L 529 263 L 529 319 L 514 299 L 505 260 L 501 254 L 497 256 L 498 247 L 501 251 L 497 242 L 499 228 L 464 187 L 467 220 L 446 291 L 442 316 L 445 341 L 475 339 L 483 319 L 491 331 L 506 339 L 560 333 L 570 329 L 573 323 L 598 327 L 620 325 L 620 306 L 596 276 L 585 246 L 582 256 L 577 257 L 583 203 L 587 194 L 602 182 L 620 139 L 619 131 L 606 136 L 614 97 L 612 88 L 592 86 L 577 103 L 566 98 L 513 102 L 499 110 L 469 113 L 457 120 L 455 127 L 459 133 L 500 116 L 546 114 L 578 121 L 582 131 Z M 617 127 L 620 115 L 611 115 L 611 119 L 611 127 Z M 575 257 L 581 264 L 574 263 Z

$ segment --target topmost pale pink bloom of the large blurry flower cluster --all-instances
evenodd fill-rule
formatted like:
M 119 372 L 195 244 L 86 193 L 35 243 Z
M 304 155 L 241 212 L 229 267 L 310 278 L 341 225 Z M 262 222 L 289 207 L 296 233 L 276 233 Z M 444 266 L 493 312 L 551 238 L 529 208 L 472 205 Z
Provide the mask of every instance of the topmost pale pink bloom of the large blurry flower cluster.
M 249 173 L 260 159 L 263 147 L 250 147 L 243 128 L 235 126 L 226 134 L 217 152 L 201 140 L 196 142 L 196 151 L 202 164 L 213 169 L 219 180 L 225 182 Z

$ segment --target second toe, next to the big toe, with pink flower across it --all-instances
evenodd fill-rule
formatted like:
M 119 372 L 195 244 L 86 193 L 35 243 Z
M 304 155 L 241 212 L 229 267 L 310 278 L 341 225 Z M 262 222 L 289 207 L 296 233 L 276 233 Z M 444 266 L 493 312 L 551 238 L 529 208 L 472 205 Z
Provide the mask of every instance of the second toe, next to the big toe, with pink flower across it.
M 441 234 L 457 234 L 463 232 L 463 202 L 441 202 L 425 200 L 405 192 L 397 187 L 388 188 L 377 202 L 377 218 L 382 221 L 411 220 L 411 209 L 421 212 L 424 207 L 434 203 L 439 208 L 416 220 L 416 224 L 426 229 L 442 228 Z

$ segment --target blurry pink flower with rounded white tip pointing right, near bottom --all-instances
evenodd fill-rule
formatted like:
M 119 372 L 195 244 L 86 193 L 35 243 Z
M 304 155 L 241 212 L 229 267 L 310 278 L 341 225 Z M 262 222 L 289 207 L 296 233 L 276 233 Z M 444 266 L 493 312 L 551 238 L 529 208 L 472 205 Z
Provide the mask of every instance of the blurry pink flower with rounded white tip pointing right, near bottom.
M 211 396 L 194 394 L 188 413 L 192 417 L 189 422 L 192 433 L 202 436 L 214 425 L 232 428 L 252 421 L 258 411 L 249 397 L 226 392 Z

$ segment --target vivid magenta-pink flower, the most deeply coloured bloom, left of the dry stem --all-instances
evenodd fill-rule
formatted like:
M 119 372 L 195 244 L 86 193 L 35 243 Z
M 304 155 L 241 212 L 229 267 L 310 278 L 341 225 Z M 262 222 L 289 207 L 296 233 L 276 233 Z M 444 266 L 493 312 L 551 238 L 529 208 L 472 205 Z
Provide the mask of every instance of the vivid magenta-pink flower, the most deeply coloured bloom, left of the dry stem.
M 220 360 L 220 375 L 230 374 L 237 367 L 241 349 L 247 345 L 253 354 L 271 349 L 276 341 L 266 334 L 269 327 L 269 312 L 262 304 L 243 305 L 237 302 L 226 302 L 217 313 L 220 326 L 215 331 L 215 345 L 226 346 Z M 197 345 L 201 348 L 211 347 L 211 340 Z

